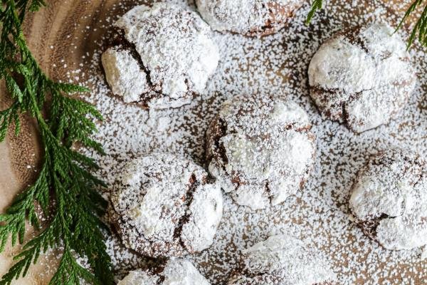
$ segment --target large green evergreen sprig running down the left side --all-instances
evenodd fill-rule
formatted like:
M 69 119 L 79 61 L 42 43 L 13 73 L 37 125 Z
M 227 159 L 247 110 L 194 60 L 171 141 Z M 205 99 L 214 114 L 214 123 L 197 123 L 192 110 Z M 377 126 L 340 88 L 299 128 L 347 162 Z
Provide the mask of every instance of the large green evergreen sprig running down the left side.
M 21 28 L 23 19 L 26 12 L 45 5 L 43 0 L 1 0 L 0 6 L 0 79 L 13 99 L 9 108 L 0 111 L 0 142 L 13 126 L 19 135 L 19 115 L 26 113 L 38 123 L 43 146 L 36 182 L 0 214 L 0 252 L 9 240 L 12 246 L 23 244 L 26 221 L 39 233 L 23 245 L 0 285 L 25 276 L 48 249 L 61 252 L 50 284 L 74 285 L 85 280 L 109 285 L 114 282 L 103 242 L 107 228 L 100 220 L 106 204 L 96 190 L 105 185 L 90 172 L 97 167 L 95 161 L 73 148 L 78 142 L 102 153 L 101 145 L 90 139 L 96 130 L 93 120 L 102 118 L 92 105 L 70 97 L 88 92 L 87 88 L 51 80 L 28 49 Z M 48 217 L 43 227 L 38 209 Z M 87 260 L 90 269 L 79 264 L 78 258 Z

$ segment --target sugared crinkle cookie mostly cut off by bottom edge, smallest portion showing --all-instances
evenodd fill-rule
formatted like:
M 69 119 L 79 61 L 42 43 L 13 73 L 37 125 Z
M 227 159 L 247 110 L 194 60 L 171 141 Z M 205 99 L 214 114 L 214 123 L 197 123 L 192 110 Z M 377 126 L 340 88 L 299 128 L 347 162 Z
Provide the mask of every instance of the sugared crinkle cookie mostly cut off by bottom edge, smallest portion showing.
M 169 259 L 164 266 L 153 270 L 135 270 L 117 285 L 210 285 L 186 259 Z

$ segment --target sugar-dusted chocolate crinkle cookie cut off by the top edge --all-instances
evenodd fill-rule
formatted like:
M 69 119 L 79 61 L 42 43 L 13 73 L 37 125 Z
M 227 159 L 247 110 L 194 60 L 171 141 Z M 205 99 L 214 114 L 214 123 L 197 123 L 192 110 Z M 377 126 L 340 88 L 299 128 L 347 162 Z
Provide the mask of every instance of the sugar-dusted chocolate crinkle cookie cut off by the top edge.
M 283 28 L 304 0 L 196 0 L 203 19 L 216 31 L 265 36 Z

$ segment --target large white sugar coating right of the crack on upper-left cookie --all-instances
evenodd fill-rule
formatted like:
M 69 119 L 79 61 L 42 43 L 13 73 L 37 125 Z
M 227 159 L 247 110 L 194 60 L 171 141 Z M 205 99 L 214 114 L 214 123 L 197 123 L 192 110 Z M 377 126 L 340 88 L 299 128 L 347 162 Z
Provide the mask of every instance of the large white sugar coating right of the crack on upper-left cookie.
M 143 65 L 139 72 L 147 74 L 149 84 L 149 90 L 132 89 L 127 98 L 143 101 L 149 108 L 188 104 L 194 93 L 206 88 L 218 66 L 218 48 L 211 28 L 194 11 L 166 3 L 141 5 L 128 11 L 115 26 L 124 31 L 130 46 L 135 46 Z

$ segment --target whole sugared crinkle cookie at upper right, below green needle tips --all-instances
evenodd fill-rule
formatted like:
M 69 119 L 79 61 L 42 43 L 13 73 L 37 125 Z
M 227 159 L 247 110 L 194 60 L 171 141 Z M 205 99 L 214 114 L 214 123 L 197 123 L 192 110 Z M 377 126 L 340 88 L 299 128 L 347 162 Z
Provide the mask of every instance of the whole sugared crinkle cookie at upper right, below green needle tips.
M 308 68 L 321 113 L 355 133 L 389 123 L 416 86 L 406 44 L 386 24 L 342 31 L 320 46 Z

